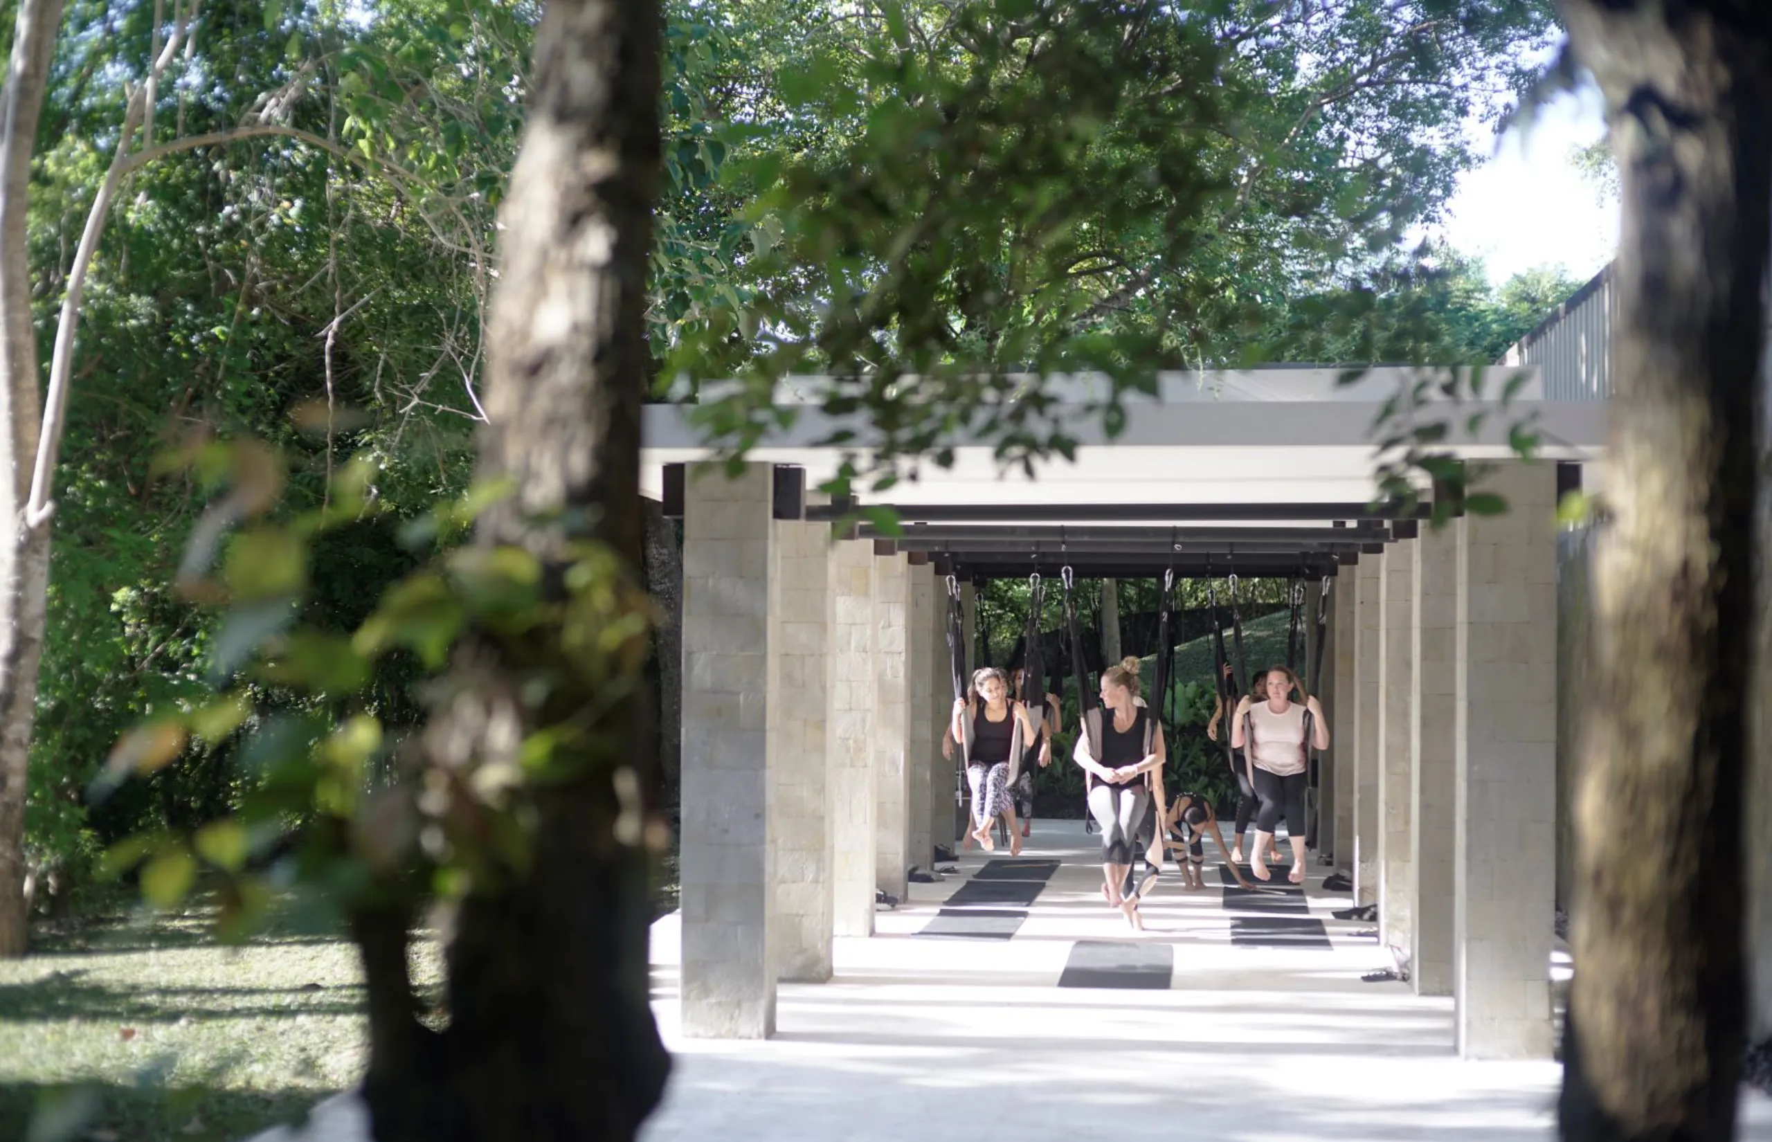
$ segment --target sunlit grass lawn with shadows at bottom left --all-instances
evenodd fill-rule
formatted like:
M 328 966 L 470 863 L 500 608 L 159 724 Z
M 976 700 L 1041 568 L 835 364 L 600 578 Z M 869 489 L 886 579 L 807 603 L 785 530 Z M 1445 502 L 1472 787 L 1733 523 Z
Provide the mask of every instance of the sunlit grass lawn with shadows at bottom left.
M 432 945 L 415 981 L 434 984 Z M 200 914 L 108 922 L 0 960 L 0 1138 L 245 1138 L 356 1084 L 356 949 L 326 935 L 209 940 Z M 48 1123 L 39 1121 L 39 1130 Z

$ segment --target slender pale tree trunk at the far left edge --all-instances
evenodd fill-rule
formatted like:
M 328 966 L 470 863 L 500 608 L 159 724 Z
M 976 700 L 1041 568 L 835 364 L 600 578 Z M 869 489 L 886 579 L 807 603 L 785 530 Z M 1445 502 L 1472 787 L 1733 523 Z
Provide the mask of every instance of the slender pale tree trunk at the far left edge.
M 48 607 L 50 533 L 30 526 L 30 459 L 43 398 L 30 322 L 30 152 L 55 53 L 62 0 L 21 0 L 0 126 L 0 956 L 23 956 L 25 793 Z

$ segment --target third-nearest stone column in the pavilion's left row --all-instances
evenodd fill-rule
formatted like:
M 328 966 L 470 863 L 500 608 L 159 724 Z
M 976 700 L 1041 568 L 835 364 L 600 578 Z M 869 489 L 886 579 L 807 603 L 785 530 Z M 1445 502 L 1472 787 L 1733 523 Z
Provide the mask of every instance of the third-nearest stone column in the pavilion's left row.
M 833 931 L 874 935 L 874 542 L 840 540 L 829 558 Z

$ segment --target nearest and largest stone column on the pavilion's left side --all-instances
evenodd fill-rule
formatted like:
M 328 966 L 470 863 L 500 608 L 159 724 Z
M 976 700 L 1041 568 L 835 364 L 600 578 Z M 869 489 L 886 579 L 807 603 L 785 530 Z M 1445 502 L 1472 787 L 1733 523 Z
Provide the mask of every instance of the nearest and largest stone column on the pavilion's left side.
M 682 551 L 682 1032 L 774 1032 L 769 464 L 691 469 Z

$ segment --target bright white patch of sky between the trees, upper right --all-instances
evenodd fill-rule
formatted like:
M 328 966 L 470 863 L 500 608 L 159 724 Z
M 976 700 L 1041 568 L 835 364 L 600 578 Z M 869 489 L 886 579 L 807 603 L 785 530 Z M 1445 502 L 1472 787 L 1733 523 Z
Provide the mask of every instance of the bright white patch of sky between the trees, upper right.
M 1448 221 L 1434 232 L 1483 258 L 1497 285 L 1554 264 L 1582 280 L 1597 274 L 1618 244 L 1618 205 L 1600 202 L 1570 150 L 1605 131 L 1598 92 L 1589 85 L 1559 96 L 1531 127 L 1515 127 L 1499 145 L 1488 127 L 1473 124 L 1471 131 L 1492 158 L 1462 177 Z

